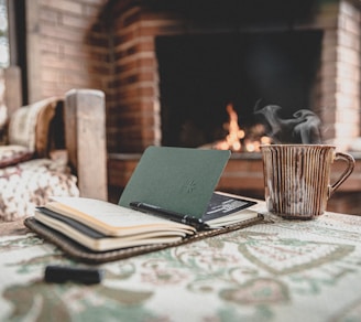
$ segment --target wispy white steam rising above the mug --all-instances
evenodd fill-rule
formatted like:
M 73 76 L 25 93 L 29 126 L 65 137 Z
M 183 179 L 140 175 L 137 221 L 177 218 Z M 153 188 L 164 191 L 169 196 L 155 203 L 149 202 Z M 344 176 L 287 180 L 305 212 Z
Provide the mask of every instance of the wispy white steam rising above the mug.
M 266 135 L 274 143 L 303 143 L 320 144 L 321 121 L 309 109 L 299 109 L 293 114 L 293 118 L 280 117 L 282 107 L 266 105 L 261 107 L 261 100 L 255 104 L 254 114 L 262 117 L 267 128 Z

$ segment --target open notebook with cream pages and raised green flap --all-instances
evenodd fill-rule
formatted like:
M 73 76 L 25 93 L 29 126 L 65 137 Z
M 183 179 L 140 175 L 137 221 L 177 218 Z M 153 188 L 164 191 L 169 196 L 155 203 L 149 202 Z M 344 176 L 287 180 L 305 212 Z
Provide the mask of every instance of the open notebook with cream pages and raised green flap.
M 103 212 L 95 212 L 95 206 L 91 206 L 91 208 L 87 207 L 88 202 L 84 200 L 80 201 L 80 198 L 72 198 L 72 201 L 55 198 L 55 205 L 45 205 L 45 210 L 39 208 L 35 218 L 25 219 L 25 225 L 43 237 L 51 239 L 69 255 L 83 260 L 107 261 L 162 249 L 164 247 L 182 245 L 184 243 L 258 223 L 262 221 L 263 217 L 258 215 L 256 212 L 252 213 L 252 211 L 250 211 L 250 214 L 244 214 L 243 218 L 234 217 L 237 215 L 236 211 L 250 207 L 254 202 L 238 196 L 228 197 L 227 195 L 215 193 L 215 187 L 229 157 L 229 151 L 150 147 L 144 151 L 121 194 L 119 205 L 109 204 L 109 206 L 112 206 L 111 212 L 109 212 L 112 216 L 114 215 L 113 208 L 119 208 L 121 210 L 119 211 L 119 216 L 124 215 L 131 217 L 131 204 L 144 203 L 166 210 L 167 212 L 186 214 L 187 217 L 195 217 L 207 224 L 212 223 L 212 225 L 207 226 L 214 229 L 193 229 L 193 232 L 186 232 L 186 236 L 176 237 L 175 239 L 164 239 L 164 243 L 162 243 L 162 240 L 152 243 L 152 237 L 150 238 L 150 235 L 147 235 L 147 242 L 142 244 L 138 237 L 141 236 L 141 234 L 145 235 L 150 233 L 150 229 L 143 225 L 144 222 L 142 222 L 142 219 L 139 219 L 134 227 L 128 226 L 122 228 L 121 219 L 117 219 L 117 225 L 114 224 L 112 226 L 114 223 L 113 219 L 106 222 L 106 208 L 108 206 L 99 204 L 100 210 L 103 210 Z M 95 205 L 94 202 L 95 201 L 91 201 L 89 205 Z M 63 212 L 65 208 L 67 213 Z M 75 211 L 73 212 L 72 208 Z M 129 208 L 129 211 L 127 211 L 127 208 Z M 57 215 L 48 211 L 55 211 Z M 230 215 L 228 215 L 228 213 Z M 134 215 L 140 216 L 140 218 L 142 217 L 139 211 L 136 211 Z M 90 221 L 88 221 L 89 216 L 92 216 Z M 143 214 L 143 216 L 147 215 Z M 151 215 L 151 217 L 153 215 Z M 228 217 L 229 219 L 222 223 L 223 217 Z M 127 247 L 119 246 L 117 248 L 116 246 L 111 246 L 110 248 L 92 248 L 89 243 L 87 244 L 84 242 L 85 239 L 83 240 L 80 238 L 81 236 L 79 233 L 85 234 L 85 230 L 81 232 L 80 229 L 81 225 L 75 228 L 76 225 L 72 224 L 72 219 L 79 221 L 80 224 L 91 229 L 110 228 L 109 234 L 101 229 L 98 230 L 105 234 L 105 236 L 103 238 L 98 236 L 98 240 L 90 240 L 96 242 L 95 244 L 97 245 L 102 242 L 101 239 L 105 239 L 103 242 L 107 243 L 116 243 L 117 240 L 111 239 L 112 237 L 119 238 L 118 242 L 122 243 L 125 240 L 121 239 L 125 230 L 129 233 L 134 228 L 134 234 L 128 234 Z M 153 221 L 152 225 L 155 225 L 156 221 Z M 165 221 L 172 226 L 168 218 Z M 99 225 L 97 223 L 99 223 Z M 140 225 L 138 225 L 139 223 Z M 184 224 L 184 222 L 182 223 Z M 143 232 L 140 232 L 139 228 L 142 225 L 145 228 Z M 160 225 L 163 224 L 160 223 Z M 76 229 L 75 235 L 73 234 L 74 229 Z M 171 236 L 171 233 L 164 233 L 164 225 L 162 229 L 163 235 L 166 237 Z M 153 235 L 155 230 L 153 230 Z M 133 238 L 138 239 L 136 243 L 134 242 L 134 246 L 129 242 Z M 119 245 L 122 245 L 121 243 Z

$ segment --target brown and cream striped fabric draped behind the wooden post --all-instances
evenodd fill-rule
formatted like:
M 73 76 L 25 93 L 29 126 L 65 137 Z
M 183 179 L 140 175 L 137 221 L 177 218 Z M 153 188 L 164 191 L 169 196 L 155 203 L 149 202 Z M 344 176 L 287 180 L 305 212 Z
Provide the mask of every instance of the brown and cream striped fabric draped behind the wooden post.
M 40 158 L 47 157 L 50 127 L 61 103 L 52 97 L 14 111 L 9 121 L 9 144 L 25 147 Z

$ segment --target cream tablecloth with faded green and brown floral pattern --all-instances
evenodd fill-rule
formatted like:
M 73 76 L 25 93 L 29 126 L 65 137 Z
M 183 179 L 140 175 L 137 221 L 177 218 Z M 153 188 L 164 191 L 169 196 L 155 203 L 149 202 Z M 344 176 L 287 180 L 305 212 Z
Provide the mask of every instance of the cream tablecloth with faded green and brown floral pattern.
M 26 232 L 26 230 L 24 230 Z M 0 237 L 0 321 L 361 321 L 361 216 L 267 223 L 100 265 L 101 283 L 32 233 Z

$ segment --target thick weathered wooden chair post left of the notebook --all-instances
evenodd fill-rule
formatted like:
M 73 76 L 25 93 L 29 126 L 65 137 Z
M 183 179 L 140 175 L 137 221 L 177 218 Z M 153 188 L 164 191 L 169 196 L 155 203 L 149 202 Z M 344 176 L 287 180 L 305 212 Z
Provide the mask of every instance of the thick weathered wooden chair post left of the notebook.
M 65 139 L 80 196 L 107 201 L 106 111 L 101 90 L 66 93 Z

